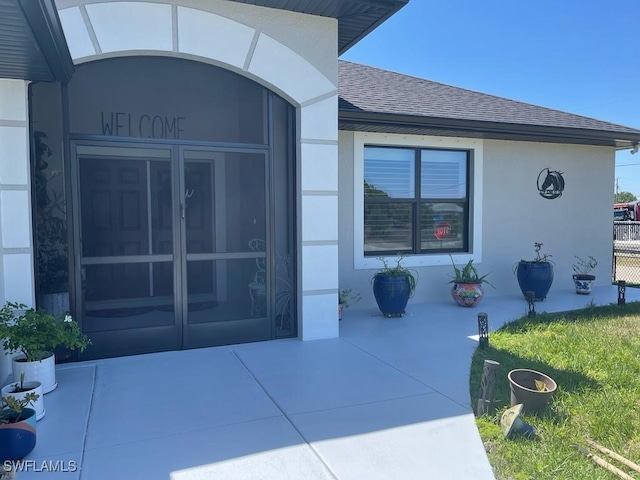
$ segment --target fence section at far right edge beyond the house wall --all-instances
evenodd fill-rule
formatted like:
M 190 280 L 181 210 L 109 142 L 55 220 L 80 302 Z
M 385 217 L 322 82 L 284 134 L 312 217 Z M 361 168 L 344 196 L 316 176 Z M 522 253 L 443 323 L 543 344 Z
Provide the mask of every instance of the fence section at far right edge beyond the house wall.
M 640 222 L 613 222 L 613 281 L 640 285 Z

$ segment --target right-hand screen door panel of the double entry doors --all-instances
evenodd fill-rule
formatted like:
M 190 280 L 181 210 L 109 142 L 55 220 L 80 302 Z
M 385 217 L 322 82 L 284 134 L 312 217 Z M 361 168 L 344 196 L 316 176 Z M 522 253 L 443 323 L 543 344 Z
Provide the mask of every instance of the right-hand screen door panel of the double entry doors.
M 184 150 L 185 346 L 271 338 L 266 155 Z

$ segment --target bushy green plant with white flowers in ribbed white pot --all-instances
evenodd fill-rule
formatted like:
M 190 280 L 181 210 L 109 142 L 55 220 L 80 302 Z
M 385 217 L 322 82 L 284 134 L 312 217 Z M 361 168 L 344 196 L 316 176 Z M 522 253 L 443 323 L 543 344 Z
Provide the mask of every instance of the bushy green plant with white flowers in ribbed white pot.
M 82 352 L 91 343 L 71 315 L 56 318 L 14 302 L 0 309 L 0 338 L 5 350 L 23 353 L 28 362 L 47 358 L 59 346 Z

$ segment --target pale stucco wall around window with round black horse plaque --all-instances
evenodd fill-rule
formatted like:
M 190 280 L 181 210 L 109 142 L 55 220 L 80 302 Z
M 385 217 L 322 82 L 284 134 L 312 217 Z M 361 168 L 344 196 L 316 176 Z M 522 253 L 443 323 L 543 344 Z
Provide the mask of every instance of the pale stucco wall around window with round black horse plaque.
M 362 142 L 360 135 L 340 132 L 340 288 L 353 288 L 361 293 L 363 302 L 359 307 L 375 307 L 370 282 L 375 268 L 361 268 L 354 256 L 357 237 L 354 230 L 359 221 L 355 212 L 361 201 L 354 195 L 354 185 L 362 182 L 358 173 L 358 162 L 362 159 L 356 159 L 358 144 Z M 429 143 L 425 141 L 428 137 L 389 136 L 410 146 Z M 451 139 L 435 138 L 433 142 L 440 140 Z M 476 192 L 471 202 L 474 215 L 481 219 L 481 242 L 476 243 L 479 249 L 473 252 L 473 258 L 482 274 L 490 274 L 488 280 L 496 287 L 495 290 L 487 287 L 487 295 L 521 295 L 512 268 L 521 258 L 533 259 L 534 242 L 543 242 L 543 252 L 553 255 L 556 264 L 550 295 L 554 290 L 573 288 L 574 255 L 596 257 L 599 262 L 594 272 L 596 284 L 609 284 L 614 149 L 497 140 L 483 140 L 481 145 L 481 194 Z M 555 200 L 542 198 L 537 190 L 538 174 L 547 167 L 563 172 L 566 183 L 564 194 Z M 460 260 L 456 263 L 464 263 L 466 260 L 462 259 L 469 257 L 457 258 Z M 414 265 L 419 274 L 412 302 L 449 297 L 451 287 L 447 282 L 452 269 L 447 255 L 408 258 L 406 263 Z M 431 266 L 420 266 L 421 263 Z

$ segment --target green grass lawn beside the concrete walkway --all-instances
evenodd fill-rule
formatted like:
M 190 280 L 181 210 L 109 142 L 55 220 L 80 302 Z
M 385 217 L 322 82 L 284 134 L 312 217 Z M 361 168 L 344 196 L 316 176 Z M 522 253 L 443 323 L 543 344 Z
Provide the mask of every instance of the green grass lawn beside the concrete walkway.
M 640 303 L 525 317 L 489 340 L 489 348 L 473 357 L 470 388 L 475 407 L 484 360 L 500 363 L 496 414 L 477 419 L 497 479 L 618 478 L 573 448 L 587 447 L 587 437 L 640 464 Z M 534 440 L 505 439 L 499 427 L 510 406 L 507 373 L 513 368 L 538 370 L 558 384 L 544 412 L 521 417 L 537 429 Z M 590 451 L 640 479 L 640 473 Z

